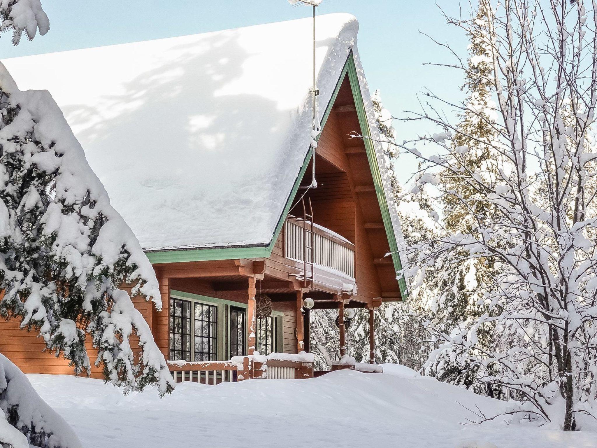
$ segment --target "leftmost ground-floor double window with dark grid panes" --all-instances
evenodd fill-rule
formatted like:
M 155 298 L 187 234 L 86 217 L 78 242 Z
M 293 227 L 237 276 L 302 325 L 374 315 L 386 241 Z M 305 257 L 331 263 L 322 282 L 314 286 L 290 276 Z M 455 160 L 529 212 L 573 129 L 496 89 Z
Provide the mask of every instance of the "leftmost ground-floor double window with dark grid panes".
M 170 359 L 217 361 L 217 315 L 217 306 L 171 299 Z

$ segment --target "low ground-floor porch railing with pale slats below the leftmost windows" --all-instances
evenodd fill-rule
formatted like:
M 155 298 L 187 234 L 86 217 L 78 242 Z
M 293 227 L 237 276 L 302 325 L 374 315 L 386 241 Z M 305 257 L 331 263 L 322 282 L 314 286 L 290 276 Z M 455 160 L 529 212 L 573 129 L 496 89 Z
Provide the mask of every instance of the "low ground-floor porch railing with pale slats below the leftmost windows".
M 168 361 L 174 381 L 216 385 L 236 382 L 238 364 L 230 361 Z

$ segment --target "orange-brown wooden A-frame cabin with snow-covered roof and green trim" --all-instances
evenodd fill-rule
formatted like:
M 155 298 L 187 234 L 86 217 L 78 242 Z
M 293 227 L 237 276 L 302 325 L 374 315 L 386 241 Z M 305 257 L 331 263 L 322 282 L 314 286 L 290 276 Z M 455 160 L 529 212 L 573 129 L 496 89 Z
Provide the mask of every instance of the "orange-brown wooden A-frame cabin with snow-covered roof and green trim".
M 269 378 L 311 376 L 309 357 L 291 356 L 310 349 L 305 299 L 340 315 L 366 308 L 373 323 L 382 302 L 407 294 L 358 24 L 317 19 L 316 143 L 310 26 L 5 61 L 21 89 L 53 94 L 145 248 L 164 308 L 140 297 L 136 306 L 179 380 L 265 376 L 263 363 Z M 17 321 L 0 323 L 0 352 L 24 372 L 71 373 L 43 348 Z

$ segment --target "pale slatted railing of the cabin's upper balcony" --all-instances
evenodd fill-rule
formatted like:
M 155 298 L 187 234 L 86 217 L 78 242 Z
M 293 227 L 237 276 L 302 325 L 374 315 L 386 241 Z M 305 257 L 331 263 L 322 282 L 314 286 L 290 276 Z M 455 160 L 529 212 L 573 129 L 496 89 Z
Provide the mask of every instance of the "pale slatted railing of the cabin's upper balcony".
M 302 262 L 305 249 L 304 236 L 310 238 L 310 232 L 303 231 L 303 220 L 289 217 L 284 225 L 284 256 Z M 313 241 L 307 241 L 307 247 L 313 247 L 313 263 L 320 268 L 338 271 L 349 278 L 355 278 L 355 245 L 344 240 L 340 235 L 313 225 Z M 306 254 L 310 257 L 310 254 Z

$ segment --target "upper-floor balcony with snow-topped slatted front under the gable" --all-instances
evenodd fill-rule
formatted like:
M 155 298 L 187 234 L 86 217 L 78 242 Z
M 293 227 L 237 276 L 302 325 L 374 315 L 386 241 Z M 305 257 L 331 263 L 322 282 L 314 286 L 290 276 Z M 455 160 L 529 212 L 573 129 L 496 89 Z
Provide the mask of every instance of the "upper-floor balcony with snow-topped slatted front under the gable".
M 309 220 L 288 217 L 284 223 L 284 256 L 303 264 L 305 278 L 355 282 L 355 245 Z

